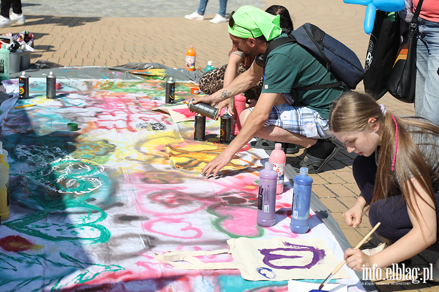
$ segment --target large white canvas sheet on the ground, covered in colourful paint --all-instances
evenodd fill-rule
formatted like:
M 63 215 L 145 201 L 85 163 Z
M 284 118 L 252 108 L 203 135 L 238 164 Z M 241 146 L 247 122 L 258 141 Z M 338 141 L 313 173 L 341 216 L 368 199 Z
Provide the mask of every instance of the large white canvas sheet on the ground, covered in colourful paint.
M 286 282 L 249 283 L 238 271 L 154 261 L 154 252 L 222 249 L 230 238 L 295 236 L 290 192 L 278 196 L 274 227 L 256 224 L 262 150 L 242 149 L 239 170 L 206 179 L 202 149 L 217 147 L 219 122 L 208 121 L 198 143 L 193 122 L 153 111 L 166 107 L 165 81 L 57 82 L 57 99 L 46 99 L 45 80 L 31 78 L 33 98 L 15 105 L 35 106 L 8 108 L 1 128 L 11 215 L 0 226 L 0 291 L 287 291 Z M 18 91 L 17 80 L 4 85 Z M 178 103 L 191 86 L 177 84 Z M 71 122 L 78 131 L 67 131 Z

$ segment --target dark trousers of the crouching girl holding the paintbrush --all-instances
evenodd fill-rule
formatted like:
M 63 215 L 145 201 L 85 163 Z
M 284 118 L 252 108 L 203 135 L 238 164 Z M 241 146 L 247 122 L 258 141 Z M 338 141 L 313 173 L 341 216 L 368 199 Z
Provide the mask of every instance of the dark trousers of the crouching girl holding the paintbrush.
M 374 196 L 375 177 L 377 175 L 375 154 L 369 157 L 357 156 L 352 164 L 352 172 L 364 200 L 370 205 Z M 435 193 L 435 197 L 439 206 L 439 193 Z M 436 209 L 436 219 L 439 222 L 438 209 Z M 392 242 L 397 241 L 413 228 L 407 211 L 407 203 L 401 195 L 373 203 L 369 208 L 369 220 L 371 226 L 381 222 L 376 233 Z M 439 234 L 437 237 L 439 239 Z M 439 241 L 428 249 L 439 251 Z

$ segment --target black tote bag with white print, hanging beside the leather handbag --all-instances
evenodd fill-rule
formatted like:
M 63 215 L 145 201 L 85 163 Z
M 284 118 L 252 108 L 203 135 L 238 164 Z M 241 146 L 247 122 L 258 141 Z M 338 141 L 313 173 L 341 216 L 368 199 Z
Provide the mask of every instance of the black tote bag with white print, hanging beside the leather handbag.
M 377 10 L 364 64 L 364 91 L 375 100 L 387 92 L 387 80 L 399 49 L 399 17 L 395 14 L 395 20 L 391 20 L 387 15 Z

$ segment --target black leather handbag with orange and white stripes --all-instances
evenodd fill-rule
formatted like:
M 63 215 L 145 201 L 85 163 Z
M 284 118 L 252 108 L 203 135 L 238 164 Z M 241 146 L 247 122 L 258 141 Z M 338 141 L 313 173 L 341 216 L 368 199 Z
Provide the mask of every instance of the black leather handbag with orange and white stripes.
M 415 32 L 423 0 L 419 0 L 409 28 L 404 32 L 404 40 L 399 47 L 398 55 L 393 65 L 392 73 L 387 82 L 387 90 L 396 99 L 415 102 L 416 86 L 416 37 Z

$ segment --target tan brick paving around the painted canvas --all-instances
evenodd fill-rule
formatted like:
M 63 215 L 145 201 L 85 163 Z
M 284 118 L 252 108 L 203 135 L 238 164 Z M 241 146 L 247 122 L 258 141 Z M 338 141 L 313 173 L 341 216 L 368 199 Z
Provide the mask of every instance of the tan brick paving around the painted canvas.
M 31 62 L 48 60 L 65 66 L 116 66 L 129 62 L 158 62 L 169 67 L 184 67 L 184 57 L 189 45 L 197 51 L 197 67 L 207 61 L 214 66 L 227 63 L 231 40 L 227 23 L 212 24 L 218 11 L 218 1 L 210 0 L 206 19 L 187 20 L 183 16 L 198 7 L 198 0 L 181 1 L 133 1 L 133 0 L 23 0 L 26 24 L 0 29 L 3 33 L 19 33 L 28 30 L 35 35 L 35 52 Z M 363 31 L 365 6 L 345 4 L 342 0 L 229 0 L 227 13 L 240 5 L 251 4 L 266 9 L 273 4 L 285 6 L 294 18 L 296 27 L 305 22 L 318 25 L 336 37 L 365 60 L 369 41 Z M 362 91 L 362 83 L 357 90 Z M 412 104 L 399 102 L 389 94 L 379 100 L 395 114 L 414 114 Z M 352 246 L 371 229 L 367 218 L 354 230 L 344 223 L 342 213 L 359 195 L 352 176 L 355 154 L 348 153 L 337 142 L 339 153 L 323 172 L 313 174 L 313 191 L 331 211 Z M 303 149 L 297 155 L 288 155 L 288 161 L 299 161 Z M 381 240 L 373 236 L 363 247 L 378 245 Z M 438 253 L 424 251 L 415 256 L 412 266 L 425 267 L 435 263 Z M 436 285 L 405 283 L 380 285 L 380 292 L 388 291 L 438 291 Z

